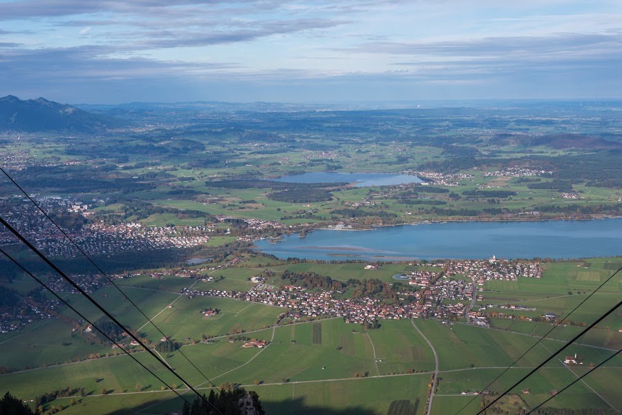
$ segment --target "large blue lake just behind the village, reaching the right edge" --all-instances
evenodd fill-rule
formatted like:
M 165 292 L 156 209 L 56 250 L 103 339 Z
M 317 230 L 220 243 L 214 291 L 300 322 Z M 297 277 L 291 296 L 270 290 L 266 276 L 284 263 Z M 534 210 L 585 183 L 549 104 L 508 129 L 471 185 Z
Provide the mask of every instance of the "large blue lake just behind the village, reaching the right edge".
M 545 222 L 449 222 L 370 231 L 317 230 L 283 242 L 255 242 L 279 258 L 433 260 L 439 258 L 584 258 L 622 255 L 622 219 Z

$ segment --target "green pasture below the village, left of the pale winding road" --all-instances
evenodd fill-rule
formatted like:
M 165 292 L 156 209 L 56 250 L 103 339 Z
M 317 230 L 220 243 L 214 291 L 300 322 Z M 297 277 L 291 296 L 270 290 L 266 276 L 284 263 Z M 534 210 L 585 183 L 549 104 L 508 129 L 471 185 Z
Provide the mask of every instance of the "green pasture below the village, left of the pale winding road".
M 371 331 L 366 334 L 360 325 L 344 323 L 340 319 L 277 327 L 274 340 L 265 351 L 258 354 L 243 371 L 227 374 L 223 380 L 282 383 L 283 379 L 293 382 L 353 378 L 359 372 L 376 376 L 376 365 L 381 375 L 432 370 L 431 350 L 410 321 L 387 323 L 374 334 L 370 334 Z M 314 328 L 317 324 L 321 325 L 321 330 Z M 319 333 L 321 341 L 314 338 Z M 374 361 L 374 347 L 377 360 L 382 362 Z

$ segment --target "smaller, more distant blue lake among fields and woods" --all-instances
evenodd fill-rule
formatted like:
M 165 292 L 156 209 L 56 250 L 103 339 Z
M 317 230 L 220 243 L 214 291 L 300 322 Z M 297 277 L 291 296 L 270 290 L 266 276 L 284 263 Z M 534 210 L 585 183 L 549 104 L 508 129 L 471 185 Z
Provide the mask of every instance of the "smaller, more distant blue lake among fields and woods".
M 274 182 L 284 183 L 356 183 L 357 187 L 391 186 L 394 184 L 421 183 L 415 175 L 399 173 L 335 173 L 314 172 L 300 175 L 288 175 L 272 179 Z

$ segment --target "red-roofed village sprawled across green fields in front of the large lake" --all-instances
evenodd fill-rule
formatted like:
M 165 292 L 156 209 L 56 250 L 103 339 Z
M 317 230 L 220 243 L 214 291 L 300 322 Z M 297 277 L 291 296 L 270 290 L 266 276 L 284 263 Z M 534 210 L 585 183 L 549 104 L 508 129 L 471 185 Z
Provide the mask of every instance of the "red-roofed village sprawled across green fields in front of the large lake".
M 472 311 L 475 300 L 484 301 L 478 290 L 486 280 L 516 280 L 519 276 L 541 278 L 542 269 L 537 262 L 509 262 L 505 260 L 461 260 L 435 264 L 443 271 L 413 271 L 400 276 L 408 279 L 408 289 L 397 291 L 399 304 L 388 304 L 384 298 L 343 298 L 345 291 L 315 291 L 305 287 L 284 285 L 272 287 L 265 278 L 252 277 L 256 285 L 249 291 L 226 291 L 218 289 L 181 289 L 182 295 L 213 296 L 260 302 L 283 307 L 283 320 L 294 322 L 301 319 L 341 317 L 344 322 L 365 324 L 375 320 L 399 320 L 402 318 L 438 318 L 454 320 L 465 317 L 473 325 L 488 326 L 487 318 L 479 311 Z M 375 269 L 377 265 L 366 265 Z M 455 277 L 455 278 L 454 278 Z M 447 300 L 447 301 L 446 301 Z M 464 302 L 462 302 L 464 301 Z M 485 306 L 484 306 L 485 308 Z M 511 309 L 522 309 L 511 306 Z M 525 307 L 527 309 L 527 307 Z

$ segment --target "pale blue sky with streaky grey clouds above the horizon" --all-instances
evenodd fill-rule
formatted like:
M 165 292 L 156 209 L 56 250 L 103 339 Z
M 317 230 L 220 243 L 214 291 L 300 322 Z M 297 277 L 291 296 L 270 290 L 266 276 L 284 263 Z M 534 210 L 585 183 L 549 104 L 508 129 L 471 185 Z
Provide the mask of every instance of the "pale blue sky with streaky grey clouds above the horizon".
M 0 0 L 0 96 L 619 99 L 619 0 Z

